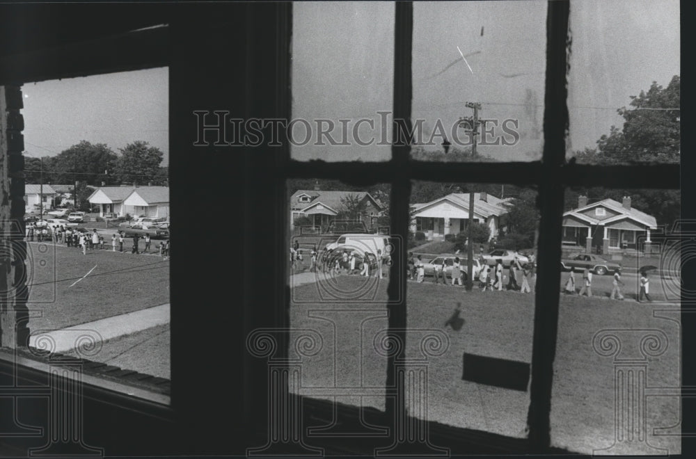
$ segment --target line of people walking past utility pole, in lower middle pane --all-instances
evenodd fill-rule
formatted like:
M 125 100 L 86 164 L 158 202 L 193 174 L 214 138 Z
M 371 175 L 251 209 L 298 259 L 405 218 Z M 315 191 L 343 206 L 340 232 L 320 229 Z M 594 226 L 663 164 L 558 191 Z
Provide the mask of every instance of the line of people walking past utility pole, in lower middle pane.
M 496 259 L 495 265 L 491 266 L 488 261 L 483 257 L 480 257 L 481 269 L 478 273 L 478 287 L 482 291 L 493 291 L 503 290 L 503 285 L 505 284 L 505 279 L 507 277 L 507 285 L 505 285 L 505 290 L 508 291 L 519 291 L 521 293 L 531 293 L 532 286 L 534 286 L 536 281 L 536 271 L 534 259 L 530 258 L 529 263 L 521 264 L 519 259 L 515 258 L 510 263 L 507 268 L 507 276 L 505 275 L 505 268 L 503 266 L 502 259 Z M 462 285 L 462 277 L 466 273 L 466 266 L 462 266 L 462 263 L 466 263 L 466 260 L 461 260 L 459 257 L 454 257 L 454 261 L 449 271 L 447 271 L 447 259 L 443 257 L 441 265 L 433 266 L 433 280 L 434 284 L 442 284 L 454 286 L 455 284 Z M 413 256 L 413 252 L 409 253 L 408 259 L 409 269 L 407 275 L 409 280 L 415 280 L 416 282 L 425 282 L 425 263 L 422 260 L 422 256 Z M 518 276 L 521 276 L 521 285 L 517 282 Z M 449 279 L 448 279 L 449 277 Z M 472 285 L 474 282 L 472 281 Z

